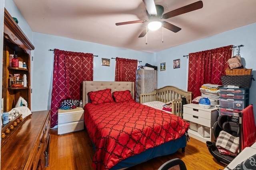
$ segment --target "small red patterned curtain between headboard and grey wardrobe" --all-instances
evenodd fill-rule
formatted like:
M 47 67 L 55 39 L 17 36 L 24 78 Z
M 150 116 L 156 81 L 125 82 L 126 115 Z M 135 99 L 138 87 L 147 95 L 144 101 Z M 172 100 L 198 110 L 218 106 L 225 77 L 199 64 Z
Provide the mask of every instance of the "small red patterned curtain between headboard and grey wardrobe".
M 122 59 L 116 57 L 115 81 L 134 82 L 135 84 L 137 67 L 138 60 Z

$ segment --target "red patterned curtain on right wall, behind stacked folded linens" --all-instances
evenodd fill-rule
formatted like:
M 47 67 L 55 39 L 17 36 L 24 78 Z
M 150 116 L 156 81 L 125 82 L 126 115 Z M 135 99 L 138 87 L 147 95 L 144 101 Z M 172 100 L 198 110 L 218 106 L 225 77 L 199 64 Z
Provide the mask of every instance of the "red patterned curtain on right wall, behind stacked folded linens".
M 188 91 L 193 98 L 201 96 L 200 87 L 203 84 L 222 85 L 220 76 L 228 68 L 228 59 L 231 58 L 233 45 L 200 51 L 189 54 L 188 63 Z

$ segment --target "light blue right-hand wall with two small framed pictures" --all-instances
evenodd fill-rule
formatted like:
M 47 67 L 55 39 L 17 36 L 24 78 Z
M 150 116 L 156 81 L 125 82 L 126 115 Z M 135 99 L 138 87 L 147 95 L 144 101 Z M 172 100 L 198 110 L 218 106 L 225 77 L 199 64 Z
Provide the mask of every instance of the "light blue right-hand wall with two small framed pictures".
M 166 62 L 166 71 L 158 71 L 158 88 L 173 85 L 187 90 L 188 59 L 183 55 L 227 45 L 244 45 L 240 47 L 242 63 L 245 68 L 252 68 L 253 77 L 256 79 L 256 23 L 253 23 L 154 54 L 152 59 L 154 65 L 159 66 L 160 63 Z M 234 55 L 237 53 L 238 48 L 234 49 Z M 176 59 L 180 59 L 180 68 L 174 69 L 173 60 Z M 252 81 L 249 103 L 254 105 L 254 117 L 256 117 L 256 81 Z

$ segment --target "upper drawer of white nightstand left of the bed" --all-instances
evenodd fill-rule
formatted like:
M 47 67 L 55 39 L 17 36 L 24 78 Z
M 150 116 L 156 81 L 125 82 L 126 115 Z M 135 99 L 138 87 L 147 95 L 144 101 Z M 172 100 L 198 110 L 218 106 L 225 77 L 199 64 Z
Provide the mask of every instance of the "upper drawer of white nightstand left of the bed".
M 74 121 L 82 121 L 82 120 L 84 120 L 84 111 L 58 115 L 58 124 L 74 122 Z

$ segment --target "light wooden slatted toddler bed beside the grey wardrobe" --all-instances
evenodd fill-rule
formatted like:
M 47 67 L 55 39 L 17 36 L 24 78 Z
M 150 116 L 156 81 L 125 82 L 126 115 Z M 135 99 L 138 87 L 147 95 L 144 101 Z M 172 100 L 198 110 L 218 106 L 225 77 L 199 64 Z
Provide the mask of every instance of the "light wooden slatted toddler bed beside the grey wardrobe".
M 192 92 L 186 92 L 175 86 L 164 86 L 152 93 L 140 94 L 141 104 L 162 110 L 164 104 L 171 103 L 172 114 L 180 117 L 183 117 L 182 107 L 184 100 L 187 104 L 191 103 Z

